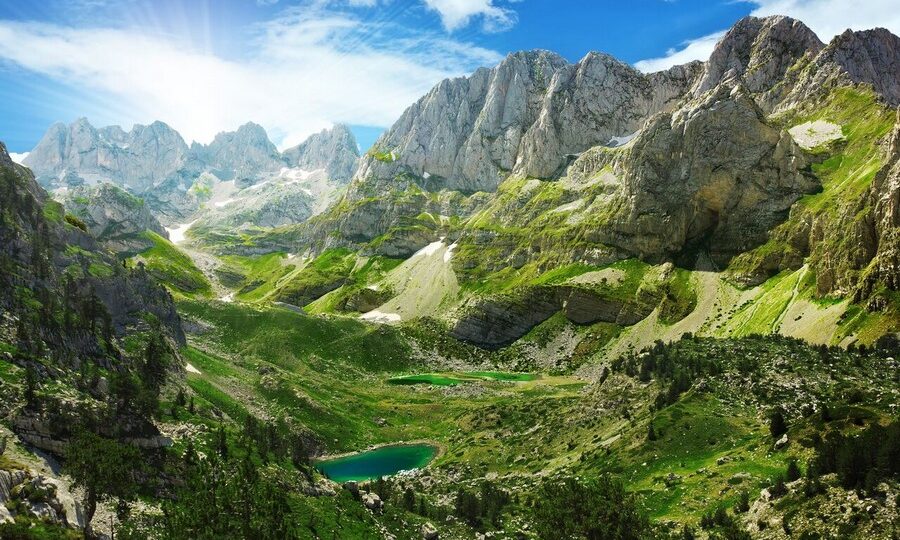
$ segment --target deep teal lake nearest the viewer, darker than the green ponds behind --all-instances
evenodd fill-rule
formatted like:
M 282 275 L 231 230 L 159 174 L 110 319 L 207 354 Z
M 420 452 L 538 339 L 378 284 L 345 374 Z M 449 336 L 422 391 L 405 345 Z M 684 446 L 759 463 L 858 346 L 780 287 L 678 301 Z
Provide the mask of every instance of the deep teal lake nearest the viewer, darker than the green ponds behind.
M 430 444 L 382 446 L 348 456 L 316 461 L 315 467 L 335 482 L 373 480 L 400 471 L 421 469 L 437 455 Z

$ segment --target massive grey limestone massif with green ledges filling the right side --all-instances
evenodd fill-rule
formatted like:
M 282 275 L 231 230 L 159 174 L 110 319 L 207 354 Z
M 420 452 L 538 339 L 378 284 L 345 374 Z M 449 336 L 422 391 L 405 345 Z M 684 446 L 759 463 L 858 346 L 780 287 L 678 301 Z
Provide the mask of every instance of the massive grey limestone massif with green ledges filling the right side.
M 544 51 L 513 54 L 437 85 L 362 158 L 339 202 L 255 238 L 252 249 L 406 258 L 452 243 L 445 263 L 462 292 L 445 297 L 441 314 L 457 337 L 491 347 L 559 311 L 627 327 L 658 310 L 672 324 L 717 295 L 735 320 L 702 314 L 680 328 L 839 342 L 858 339 L 850 328 L 862 325 L 871 340 L 898 327 L 886 277 L 895 250 L 883 247 L 892 226 L 875 225 L 889 222 L 876 207 L 891 207 L 885 136 L 895 123 L 897 50 L 883 30 L 825 45 L 802 22 L 750 17 L 708 62 L 651 75 L 602 54 L 575 65 Z M 653 293 L 621 317 L 608 291 L 572 296 L 560 290 L 566 280 L 547 277 L 629 259 L 678 272 L 637 276 L 631 294 Z M 722 272 L 723 284 L 707 284 L 707 271 Z M 739 298 L 761 302 L 785 272 L 795 307 L 738 309 Z M 317 305 L 347 305 L 342 295 Z M 824 295 L 879 314 L 862 323 L 869 316 L 844 302 L 847 317 L 819 313 L 810 306 Z M 786 321 L 791 309 L 820 323 Z

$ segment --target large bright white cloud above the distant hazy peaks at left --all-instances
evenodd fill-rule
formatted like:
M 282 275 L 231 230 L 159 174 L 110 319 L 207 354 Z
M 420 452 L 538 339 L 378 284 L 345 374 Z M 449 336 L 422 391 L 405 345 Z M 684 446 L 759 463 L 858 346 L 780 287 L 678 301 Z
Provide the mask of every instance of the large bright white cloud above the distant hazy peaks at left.
M 109 118 L 98 123 L 158 119 L 188 141 L 207 142 L 253 120 L 284 148 L 333 122 L 391 125 L 441 79 L 501 58 L 323 5 L 256 26 L 240 60 L 135 28 L 0 21 L 0 61 L 75 88 L 86 110 L 108 103 Z

